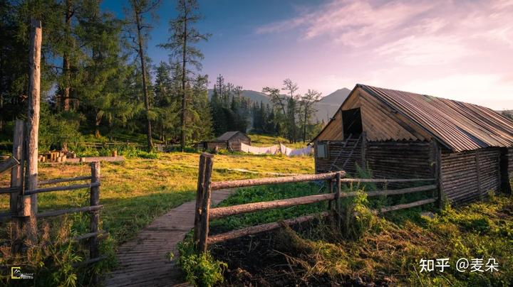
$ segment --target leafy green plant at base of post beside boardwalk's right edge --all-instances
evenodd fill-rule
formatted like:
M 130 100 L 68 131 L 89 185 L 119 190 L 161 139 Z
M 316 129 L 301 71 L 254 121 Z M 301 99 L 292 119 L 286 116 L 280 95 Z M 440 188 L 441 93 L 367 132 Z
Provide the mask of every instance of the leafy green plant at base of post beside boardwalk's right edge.
M 180 257 L 177 264 L 184 272 L 187 282 L 195 286 L 214 286 L 222 283 L 222 274 L 224 269 L 227 269 L 227 264 L 215 260 L 209 252 L 198 253 L 192 240 L 180 242 L 178 251 Z

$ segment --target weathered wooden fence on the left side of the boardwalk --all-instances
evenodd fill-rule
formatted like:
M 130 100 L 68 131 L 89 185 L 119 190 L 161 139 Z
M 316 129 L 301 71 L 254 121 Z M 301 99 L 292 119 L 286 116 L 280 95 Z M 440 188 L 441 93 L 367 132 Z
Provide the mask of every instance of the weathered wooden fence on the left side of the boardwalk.
M 19 228 L 14 228 L 12 234 L 13 238 L 22 238 L 24 235 L 33 242 L 37 240 L 37 220 L 46 217 L 56 217 L 75 212 L 89 212 L 90 223 L 89 232 L 77 237 L 71 238 L 72 241 L 81 242 L 88 240 L 89 259 L 79 262 L 74 266 L 83 266 L 93 264 L 103 259 L 100 256 L 99 240 L 107 235 L 107 232 L 98 229 L 100 222 L 100 162 L 90 163 L 91 173 L 88 176 L 80 176 L 76 178 L 57 178 L 53 180 L 37 181 L 36 188 L 28 189 L 28 185 L 24 185 L 24 169 L 25 169 L 25 153 L 24 153 L 24 122 L 16 120 L 13 156 L 9 160 L 0 163 L 0 173 L 8 170 L 11 171 L 11 186 L 9 188 L 0 188 L 0 194 L 9 194 L 10 201 L 9 212 L 0 213 L 1 220 L 11 220 Z M 72 184 L 66 186 L 50 186 L 42 187 L 44 185 L 56 185 L 57 183 L 74 183 L 80 181 L 88 181 L 88 183 Z M 25 188 L 24 188 L 25 186 Z M 37 195 L 38 193 L 50 193 L 70 190 L 83 190 L 90 191 L 89 206 L 74 207 L 66 210 L 50 210 L 38 212 Z M 26 234 L 20 234 L 26 230 Z M 14 251 L 21 250 L 19 246 L 14 246 Z M 95 281 L 96 278 L 93 278 Z

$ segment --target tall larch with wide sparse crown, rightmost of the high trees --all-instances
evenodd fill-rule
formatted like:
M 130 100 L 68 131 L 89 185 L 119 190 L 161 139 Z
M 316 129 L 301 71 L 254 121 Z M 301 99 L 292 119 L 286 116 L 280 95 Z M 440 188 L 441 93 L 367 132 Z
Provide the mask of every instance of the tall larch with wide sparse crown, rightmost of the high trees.
M 178 16 L 170 21 L 170 38 L 167 43 L 162 43 L 160 47 L 170 50 L 170 58 L 174 62 L 182 65 L 181 78 L 181 109 L 180 109 L 180 150 L 183 151 L 186 142 L 187 129 L 187 94 L 190 93 L 190 81 L 194 80 L 195 70 L 202 68 L 201 60 L 203 53 L 195 47 L 195 43 L 201 40 L 207 40 L 209 34 L 202 34 L 195 28 L 195 23 L 202 19 L 198 12 L 199 5 L 197 0 L 178 0 Z M 193 70 L 195 69 L 195 70 Z M 207 111 L 202 111 L 207 112 Z

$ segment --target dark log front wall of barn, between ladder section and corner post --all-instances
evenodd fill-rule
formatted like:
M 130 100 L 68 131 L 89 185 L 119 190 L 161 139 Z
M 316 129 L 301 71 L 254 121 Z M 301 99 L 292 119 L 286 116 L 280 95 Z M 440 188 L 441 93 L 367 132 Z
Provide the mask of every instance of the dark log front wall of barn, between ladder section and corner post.
M 432 178 L 432 157 L 427 141 L 367 143 L 367 165 L 374 178 Z

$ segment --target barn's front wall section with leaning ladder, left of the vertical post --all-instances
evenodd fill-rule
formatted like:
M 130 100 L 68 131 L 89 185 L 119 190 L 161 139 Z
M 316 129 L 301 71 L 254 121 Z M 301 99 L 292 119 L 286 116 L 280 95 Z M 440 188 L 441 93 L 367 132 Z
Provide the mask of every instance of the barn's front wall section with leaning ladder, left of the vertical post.
M 354 175 L 356 173 L 356 165 L 362 166 L 362 141 L 359 141 L 358 144 L 356 144 L 357 142 L 358 138 L 349 139 L 347 144 L 346 141 L 327 141 L 328 158 L 317 158 L 317 152 L 314 153 L 316 155 L 316 173 L 328 173 L 343 169 L 347 173 Z M 344 144 L 346 144 L 345 147 Z M 354 151 L 351 154 L 351 150 L 353 150 L 353 148 Z M 343 164 L 346 163 L 346 161 L 346 167 L 343 168 Z

